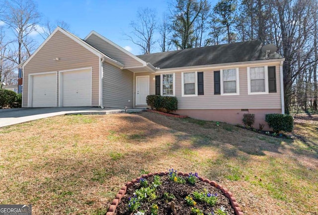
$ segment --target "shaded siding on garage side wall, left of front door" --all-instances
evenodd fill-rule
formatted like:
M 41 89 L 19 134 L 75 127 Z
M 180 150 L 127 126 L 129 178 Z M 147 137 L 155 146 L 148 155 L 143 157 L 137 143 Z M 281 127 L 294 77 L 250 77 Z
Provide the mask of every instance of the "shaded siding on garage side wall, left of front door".
M 103 105 L 132 108 L 133 101 L 134 73 L 103 64 Z

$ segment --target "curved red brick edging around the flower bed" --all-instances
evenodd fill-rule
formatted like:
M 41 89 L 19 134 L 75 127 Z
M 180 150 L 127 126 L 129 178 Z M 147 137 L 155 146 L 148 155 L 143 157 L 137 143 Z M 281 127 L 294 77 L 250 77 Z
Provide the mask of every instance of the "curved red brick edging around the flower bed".
M 123 186 L 118 194 L 116 195 L 115 199 L 113 200 L 113 202 L 111 203 L 111 206 L 109 207 L 106 215 L 114 215 L 114 212 L 116 211 L 117 209 L 117 205 L 119 204 L 120 200 L 125 196 L 126 192 L 127 192 L 127 189 L 132 187 L 134 184 L 136 184 L 138 182 L 139 179 L 141 178 L 145 178 L 147 179 L 148 177 L 152 177 L 154 175 L 159 175 L 159 176 L 164 176 L 164 175 L 168 175 L 169 172 L 157 172 L 157 173 L 149 173 L 147 175 L 142 175 L 141 177 L 138 177 L 136 179 L 133 179 L 129 182 L 127 182 L 125 184 L 125 186 Z M 188 177 L 189 174 L 187 173 L 182 173 L 182 172 L 178 172 L 178 175 L 180 176 L 184 176 L 184 177 Z M 235 211 L 235 214 L 236 215 L 243 215 L 243 212 L 242 210 L 239 208 L 239 204 L 237 203 L 237 200 L 235 199 L 235 197 L 233 197 L 233 194 L 225 187 L 223 187 L 222 185 L 220 184 L 217 184 L 215 181 L 210 181 L 209 179 L 205 179 L 205 178 L 202 178 L 202 177 L 199 177 L 198 178 L 200 181 L 203 181 L 203 182 L 206 182 L 208 184 L 210 184 L 211 186 L 213 187 L 216 187 L 218 188 L 219 190 L 222 191 L 222 193 L 230 200 L 230 203 L 231 203 L 231 206 L 232 208 L 234 209 Z

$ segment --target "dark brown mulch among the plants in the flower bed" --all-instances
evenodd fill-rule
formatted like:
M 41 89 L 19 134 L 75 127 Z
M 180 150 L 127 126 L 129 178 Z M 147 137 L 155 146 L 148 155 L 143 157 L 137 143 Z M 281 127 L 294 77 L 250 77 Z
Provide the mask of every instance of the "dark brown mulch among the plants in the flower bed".
M 179 177 L 186 179 L 186 177 L 184 176 Z M 229 198 L 227 198 L 225 194 L 222 192 L 222 190 L 220 190 L 222 189 L 222 186 L 220 185 L 218 186 L 220 189 L 218 189 L 210 185 L 208 180 L 206 180 L 208 182 L 207 183 L 199 179 L 194 185 L 190 185 L 188 183 L 180 184 L 173 180 L 169 180 L 168 175 L 161 176 L 160 179 L 162 184 L 156 188 L 157 198 L 155 200 L 142 202 L 141 207 L 138 209 L 138 212 L 144 212 L 145 215 L 151 215 L 152 206 L 154 204 L 157 204 L 159 209 L 158 215 L 190 215 L 191 208 L 193 207 L 198 208 L 201 212 L 203 212 L 204 215 L 217 215 L 213 214 L 212 212 L 215 212 L 220 208 L 224 212 L 226 212 L 226 215 L 236 215 L 235 210 L 231 206 Z M 148 180 L 149 185 L 151 185 L 154 181 L 154 176 L 148 177 L 146 180 Z M 217 186 L 216 183 L 215 186 Z M 119 202 L 117 210 L 114 212 L 114 215 L 134 215 L 137 213 L 137 211 L 129 211 L 129 201 L 130 198 L 134 198 L 136 190 L 140 189 L 141 187 L 142 186 L 140 183 L 135 183 L 133 186 L 127 189 L 126 195 Z M 187 196 L 193 197 L 192 193 L 194 191 L 205 192 L 208 193 L 208 195 L 217 196 L 217 203 L 214 206 L 211 206 L 205 202 L 195 200 L 195 206 L 187 205 L 185 198 Z M 169 201 L 171 200 L 167 200 L 166 193 L 172 194 L 175 197 L 175 199 L 172 200 L 175 204 L 175 213 L 171 211 L 171 207 L 169 205 L 171 204 L 169 203 Z M 232 197 L 232 194 L 230 198 L 232 198 L 232 201 L 235 201 L 235 198 Z M 236 202 L 235 205 L 238 206 Z M 239 208 L 237 208 L 237 210 L 240 211 Z M 239 215 L 242 215 L 242 213 L 239 212 Z

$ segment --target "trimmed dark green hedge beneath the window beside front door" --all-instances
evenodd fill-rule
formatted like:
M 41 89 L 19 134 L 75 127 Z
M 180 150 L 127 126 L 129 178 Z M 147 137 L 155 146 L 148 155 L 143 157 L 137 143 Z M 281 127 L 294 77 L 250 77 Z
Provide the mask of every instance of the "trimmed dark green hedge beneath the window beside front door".
M 178 109 L 178 99 L 175 96 L 148 95 L 146 102 L 152 110 L 165 109 L 170 113 Z

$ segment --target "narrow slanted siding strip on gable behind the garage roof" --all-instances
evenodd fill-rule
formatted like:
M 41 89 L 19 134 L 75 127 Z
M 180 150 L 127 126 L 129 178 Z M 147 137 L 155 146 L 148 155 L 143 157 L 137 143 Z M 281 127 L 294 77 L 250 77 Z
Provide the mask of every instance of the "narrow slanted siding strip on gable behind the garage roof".
M 103 39 L 99 38 L 98 36 L 92 34 L 87 39 L 86 42 L 95 47 L 96 49 L 102 51 L 112 59 L 122 63 L 125 67 L 141 67 L 143 66 L 142 63 L 138 62 L 131 56 L 125 54 L 124 52 L 120 51 L 116 47 L 110 45 Z

